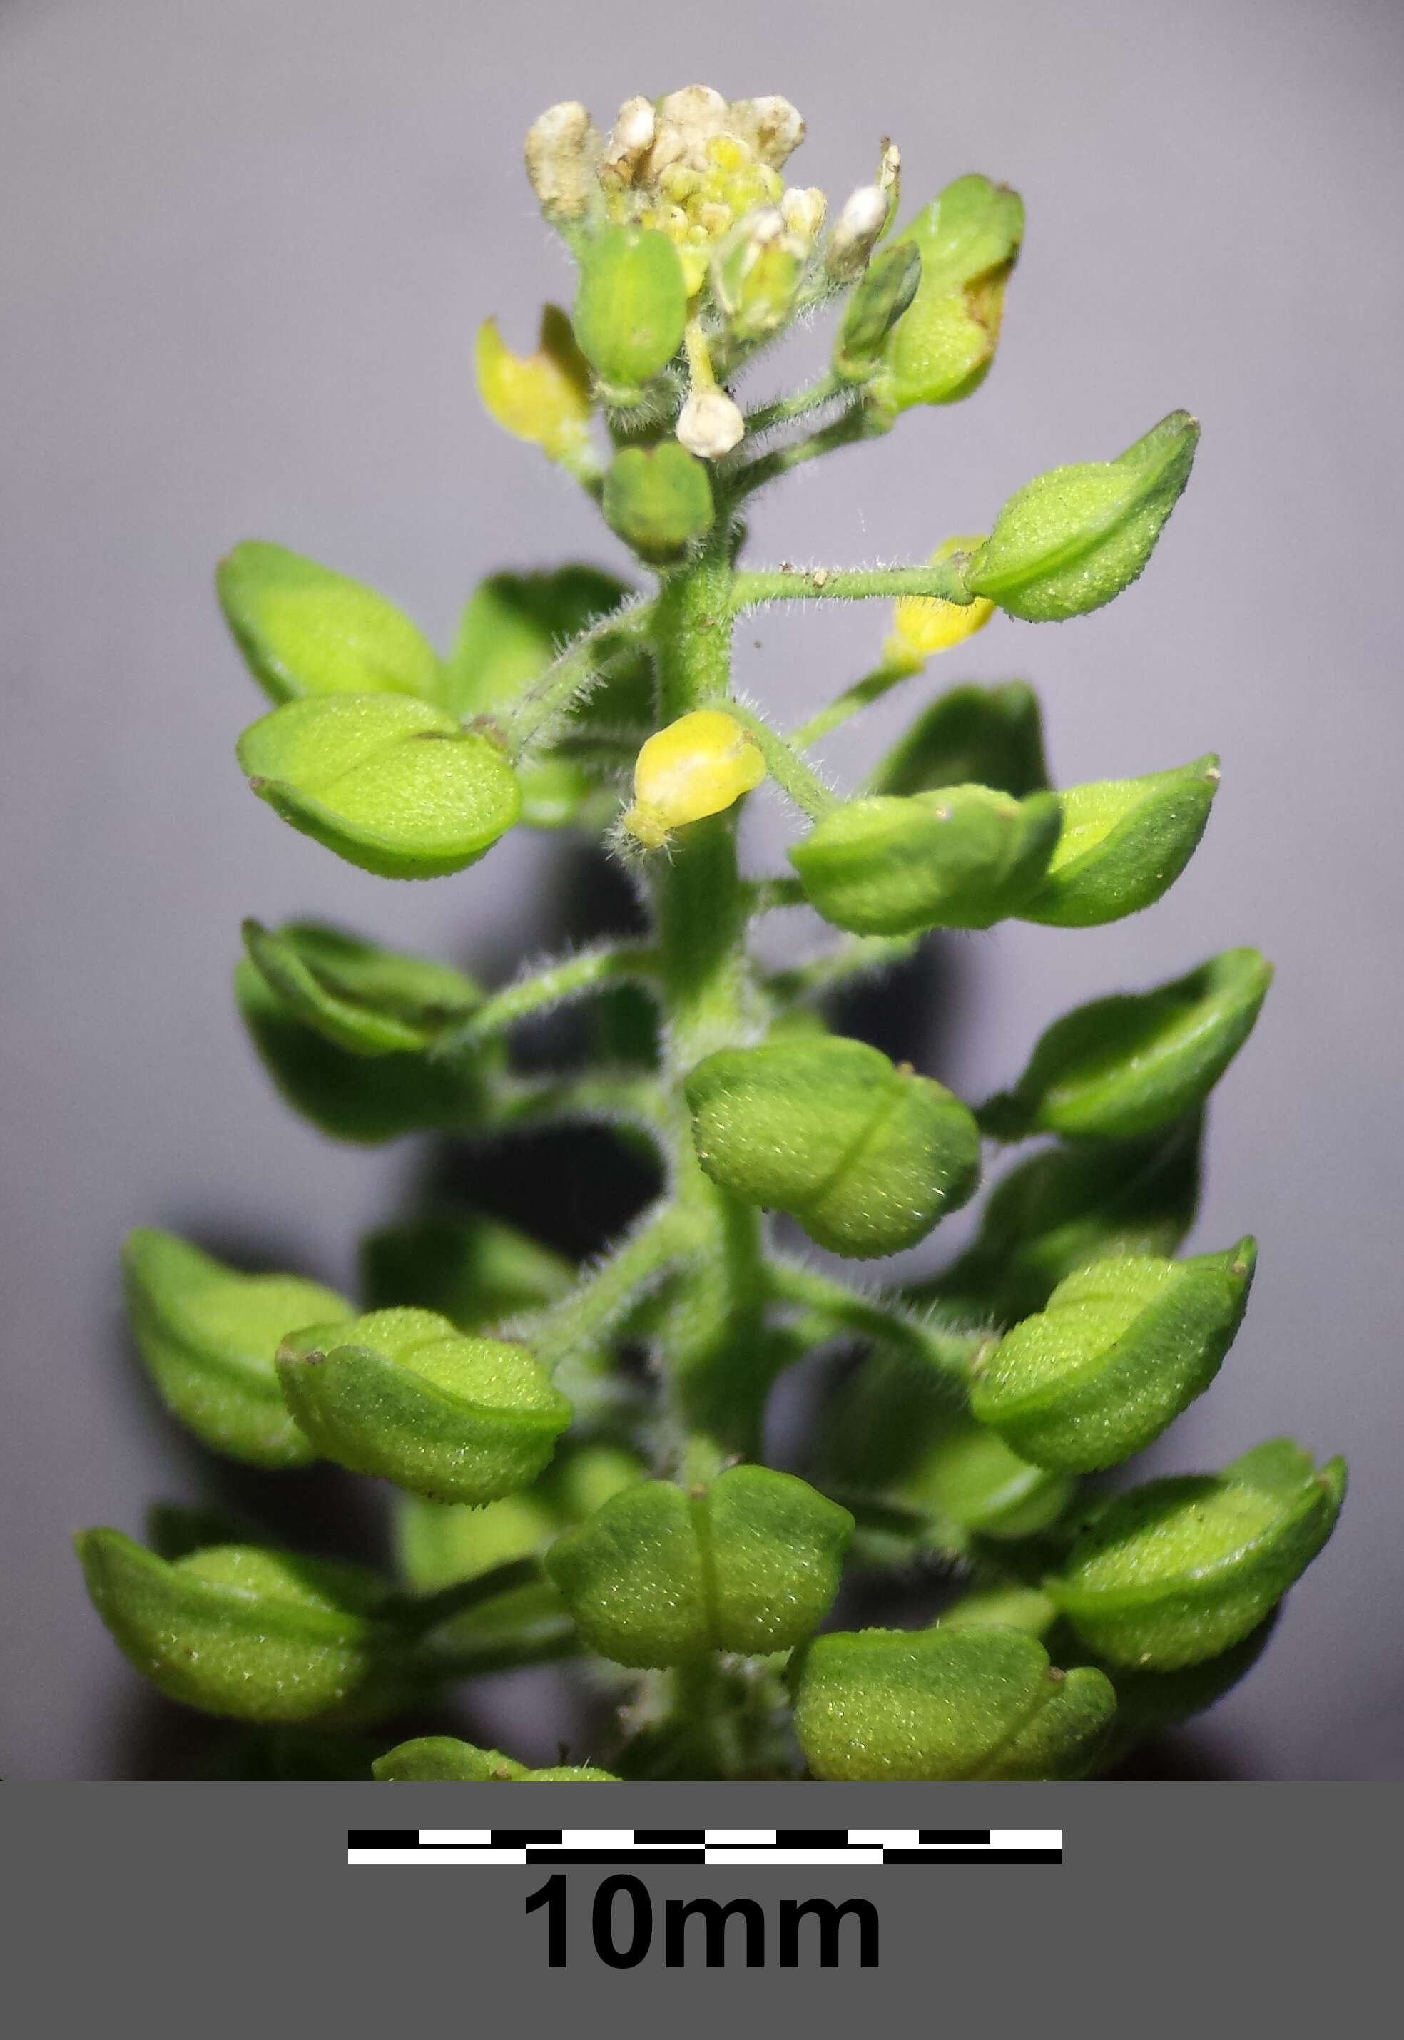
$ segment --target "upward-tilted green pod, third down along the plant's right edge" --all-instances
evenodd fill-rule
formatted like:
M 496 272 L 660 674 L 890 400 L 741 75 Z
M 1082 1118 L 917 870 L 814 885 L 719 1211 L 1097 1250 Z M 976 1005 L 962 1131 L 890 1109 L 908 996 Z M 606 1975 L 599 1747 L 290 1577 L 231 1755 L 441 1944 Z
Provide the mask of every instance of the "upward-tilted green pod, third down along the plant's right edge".
M 1224 949 L 1153 991 L 1094 1000 L 1055 1020 L 1008 1095 L 982 1124 L 998 1140 L 1031 1132 L 1135 1140 L 1204 1104 L 1267 998 L 1271 965 Z

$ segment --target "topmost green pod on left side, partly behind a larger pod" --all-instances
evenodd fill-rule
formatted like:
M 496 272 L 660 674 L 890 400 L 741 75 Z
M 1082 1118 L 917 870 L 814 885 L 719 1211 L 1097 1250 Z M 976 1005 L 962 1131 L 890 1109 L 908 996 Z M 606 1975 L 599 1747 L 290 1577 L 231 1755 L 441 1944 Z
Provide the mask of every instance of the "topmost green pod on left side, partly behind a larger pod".
M 433 702 L 439 659 L 394 602 L 302 553 L 245 539 L 214 573 L 224 622 L 273 702 L 410 694 Z

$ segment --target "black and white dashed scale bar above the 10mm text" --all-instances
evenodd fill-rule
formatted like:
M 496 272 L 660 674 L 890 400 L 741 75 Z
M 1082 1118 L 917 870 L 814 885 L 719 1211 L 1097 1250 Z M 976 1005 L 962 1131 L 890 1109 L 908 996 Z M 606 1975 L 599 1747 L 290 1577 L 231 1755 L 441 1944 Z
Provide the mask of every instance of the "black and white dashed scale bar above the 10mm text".
M 353 1865 L 1061 1863 L 1061 1828 L 351 1828 Z

